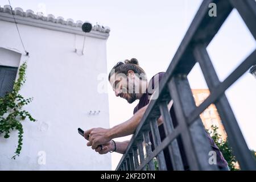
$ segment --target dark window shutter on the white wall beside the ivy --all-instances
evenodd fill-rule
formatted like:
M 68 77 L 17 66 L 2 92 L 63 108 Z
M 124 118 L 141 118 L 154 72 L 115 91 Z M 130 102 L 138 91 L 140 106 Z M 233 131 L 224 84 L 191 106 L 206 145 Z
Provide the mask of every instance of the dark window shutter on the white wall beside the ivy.
M 0 66 L 0 97 L 13 90 L 18 68 Z

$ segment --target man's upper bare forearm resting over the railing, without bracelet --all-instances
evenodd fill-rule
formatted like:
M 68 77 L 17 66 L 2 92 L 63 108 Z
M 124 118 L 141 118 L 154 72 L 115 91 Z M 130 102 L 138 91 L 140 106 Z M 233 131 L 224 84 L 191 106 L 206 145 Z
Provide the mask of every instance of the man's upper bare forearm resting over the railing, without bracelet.
M 131 135 L 134 133 L 134 131 L 137 129 L 137 126 L 139 125 L 139 122 L 141 122 L 141 119 L 143 117 L 143 114 L 145 113 L 147 106 L 142 107 L 126 122 L 123 122 L 117 126 L 114 126 L 112 129 L 108 131 L 108 137 L 110 139 L 118 138 L 118 137 L 125 137 L 127 135 Z

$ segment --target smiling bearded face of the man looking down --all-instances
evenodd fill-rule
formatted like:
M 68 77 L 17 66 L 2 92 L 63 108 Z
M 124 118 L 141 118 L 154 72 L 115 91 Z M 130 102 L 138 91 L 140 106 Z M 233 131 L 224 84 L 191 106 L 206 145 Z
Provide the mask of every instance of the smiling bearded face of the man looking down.
M 129 104 L 137 100 L 133 76 L 126 76 L 122 73 L 113 74 L 109 81 L 115 96 L 124 98 Z

